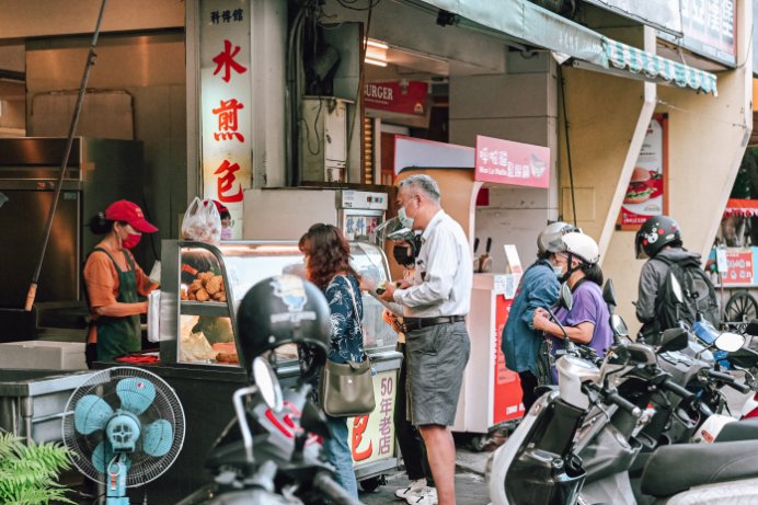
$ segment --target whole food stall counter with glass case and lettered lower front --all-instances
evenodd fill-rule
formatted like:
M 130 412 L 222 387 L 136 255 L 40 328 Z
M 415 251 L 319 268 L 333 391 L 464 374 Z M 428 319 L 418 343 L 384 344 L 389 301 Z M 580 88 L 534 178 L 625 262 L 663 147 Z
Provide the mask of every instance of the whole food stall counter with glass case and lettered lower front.
M 352 265 L 376 282 L 389 278 L 381 249 L 352 242 Z M 219 245 L 165 240 L 161 248 L 160 364 L 150 371 L 176 391 L 187 418 L 187 439 L 176 463 L 150 486 L 160 503 L 175 503 L 210 481 L 204 460 L 215 437 L 233 416 L 232 392 L 246 378 L 237 356 L 237 311 L 259 280 L 279 274 L 305 275 L 297 241 L 225 241 Z M 348 420 L 355 472 L 364 489 L 381 482 L 397 467 L 392 423 L 398 371 L 402 355 L 397 334 L 381 318 L 382 305 L 364 296 L 364 335 L 371 357 L 376 410 Z M 277 349 L 277 375 L 291 387 L 299 375 L 295 345 Z M 180 471 L 174 471 L 180 468 Z M 187 484 L 192 481 L 192 485 Z M 166 485 L 170 484 L 170 485 Z

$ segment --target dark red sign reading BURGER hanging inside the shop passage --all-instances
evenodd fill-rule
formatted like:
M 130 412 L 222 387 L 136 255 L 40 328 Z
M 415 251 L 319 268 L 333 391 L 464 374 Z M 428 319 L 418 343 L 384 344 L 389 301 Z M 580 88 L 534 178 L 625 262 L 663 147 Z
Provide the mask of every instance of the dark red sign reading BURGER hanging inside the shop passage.
M 428 84 L 422 81 L 370 82 L 364 88 L 366 108 L 411 116 L 426 114 Z

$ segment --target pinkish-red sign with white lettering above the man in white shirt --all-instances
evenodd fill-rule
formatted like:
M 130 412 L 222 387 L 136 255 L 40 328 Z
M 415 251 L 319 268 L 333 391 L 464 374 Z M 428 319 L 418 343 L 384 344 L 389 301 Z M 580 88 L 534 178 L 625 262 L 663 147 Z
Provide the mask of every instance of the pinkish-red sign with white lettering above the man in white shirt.
M 478 135 L 474 181 L 548 187 L 550 149 Z

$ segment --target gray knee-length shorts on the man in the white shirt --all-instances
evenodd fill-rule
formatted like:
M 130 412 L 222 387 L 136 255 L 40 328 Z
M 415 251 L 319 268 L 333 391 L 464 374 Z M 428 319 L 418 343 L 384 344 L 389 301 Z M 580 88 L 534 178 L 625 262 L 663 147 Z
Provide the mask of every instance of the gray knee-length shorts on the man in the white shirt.
M 471 343 L 466 322 L 437 324 L 406 335 L 409 421 L 452 426 Z

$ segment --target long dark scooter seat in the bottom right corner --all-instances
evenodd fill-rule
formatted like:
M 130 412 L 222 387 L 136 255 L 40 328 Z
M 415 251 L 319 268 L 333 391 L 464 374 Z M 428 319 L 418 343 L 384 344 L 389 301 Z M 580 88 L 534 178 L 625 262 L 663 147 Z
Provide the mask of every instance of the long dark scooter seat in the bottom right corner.
M 681 444 L 656 449 L 642 472 L 644 494 L 666 497 L 696 485 L 758 477 L 758 440 Z

